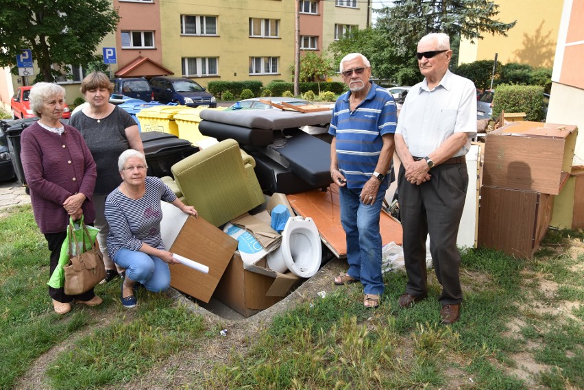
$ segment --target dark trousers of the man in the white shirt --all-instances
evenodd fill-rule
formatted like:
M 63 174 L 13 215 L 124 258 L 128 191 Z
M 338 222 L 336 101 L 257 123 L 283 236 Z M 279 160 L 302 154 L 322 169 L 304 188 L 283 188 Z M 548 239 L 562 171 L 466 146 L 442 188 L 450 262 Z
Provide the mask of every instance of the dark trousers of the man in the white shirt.
M 430 234 L 430 254 L 442 291 L 443 305 L 462 301 L 461 255 L 457 235 L 466 198 L 466 164 L 444 164 L 430 170 L 432 178 L 419 186 L 404 178 L 400 167 L 398 192 L 404 231 L 404 260 L 408 274 L 406 293 L 427 293 L 426 237 Z

